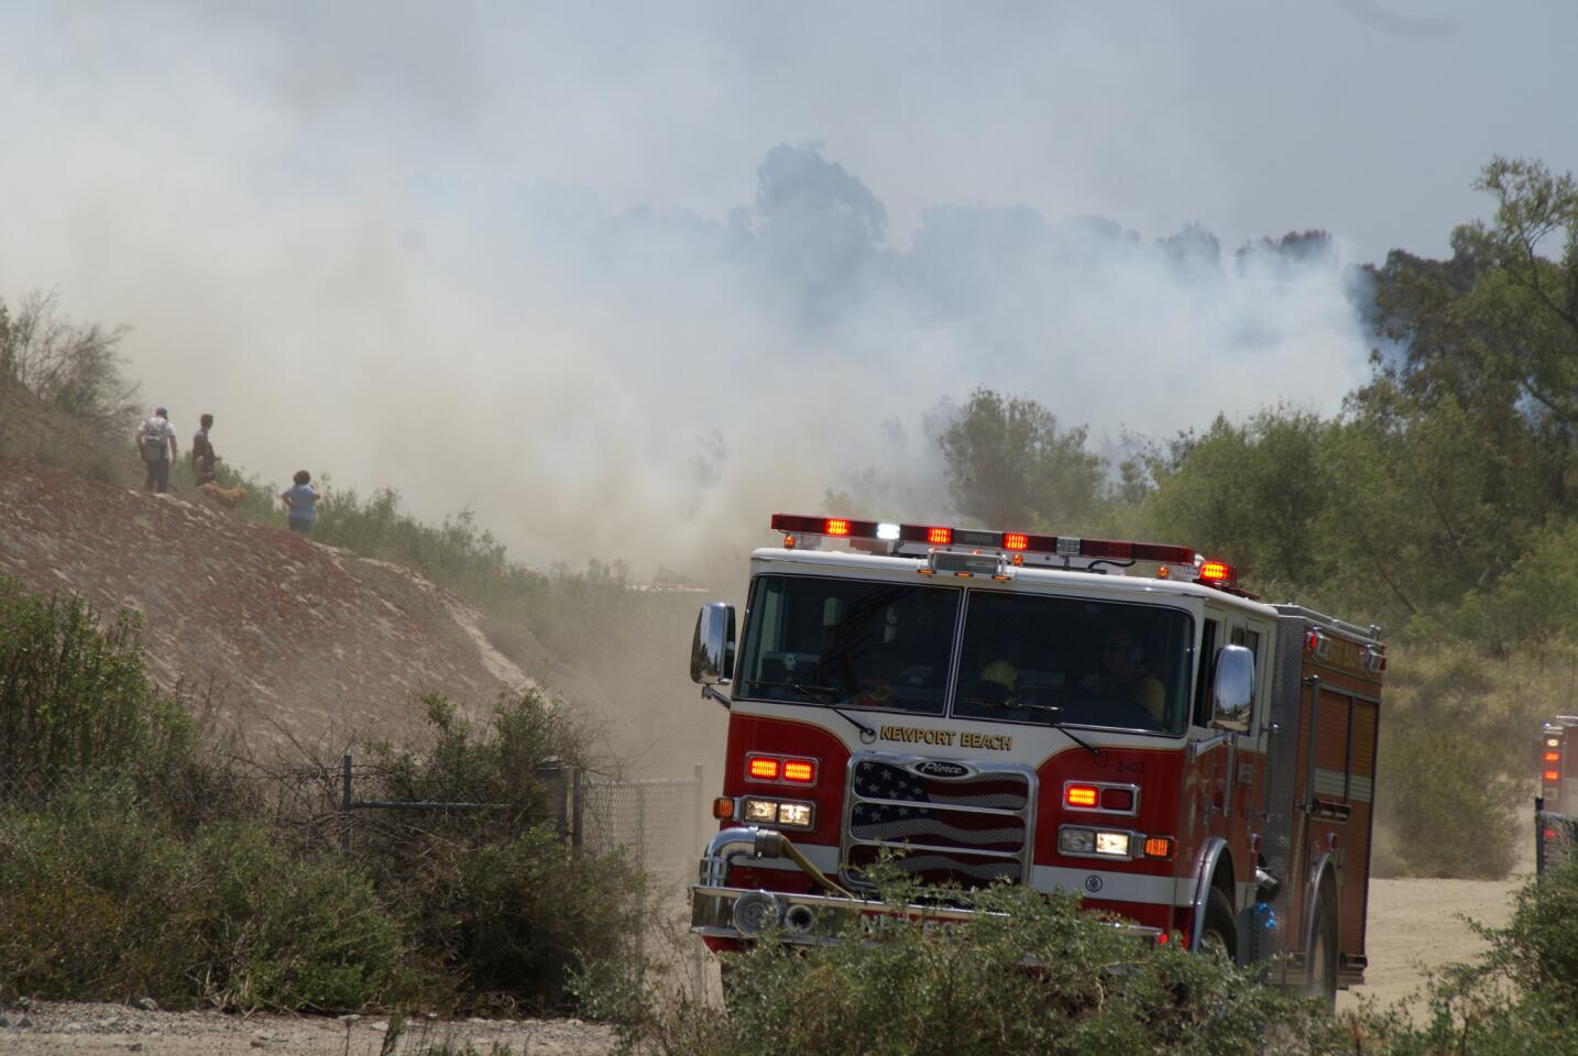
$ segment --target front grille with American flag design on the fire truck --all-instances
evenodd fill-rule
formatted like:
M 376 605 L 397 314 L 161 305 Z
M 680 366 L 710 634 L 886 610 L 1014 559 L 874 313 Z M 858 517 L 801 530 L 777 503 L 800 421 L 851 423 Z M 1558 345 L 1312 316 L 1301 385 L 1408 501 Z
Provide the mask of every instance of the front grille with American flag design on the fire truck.
M 1035 775 L 1018 766 L 869 753 L 849 766 L 843 878 L 869 887 L 884 852 L 928 886 L 1024 882 Z

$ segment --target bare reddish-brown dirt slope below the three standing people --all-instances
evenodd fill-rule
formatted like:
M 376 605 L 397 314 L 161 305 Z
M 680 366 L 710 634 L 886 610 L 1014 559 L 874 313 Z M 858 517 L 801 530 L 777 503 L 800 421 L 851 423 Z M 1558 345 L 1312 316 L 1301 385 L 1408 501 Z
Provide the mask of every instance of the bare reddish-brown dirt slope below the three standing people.
M 478 715 L 530 682 L 448 590 L 188 497 L 0 458 L 0 573 L 140 612 L 158 683 L 215 695 L 254 751 L 398 736 L 418 693 Z

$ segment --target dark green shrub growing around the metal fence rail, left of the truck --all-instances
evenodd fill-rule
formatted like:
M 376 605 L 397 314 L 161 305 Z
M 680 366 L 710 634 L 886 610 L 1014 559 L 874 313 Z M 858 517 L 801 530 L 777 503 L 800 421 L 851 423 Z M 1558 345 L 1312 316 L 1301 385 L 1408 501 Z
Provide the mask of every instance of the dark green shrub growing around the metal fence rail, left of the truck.
M 412 944 L 450 979 L 456 1007 L 563 1009 L 578 961 L 626 958 L 644 916 L 642 878 L 622 857 L 573 857 L 555 832 L 563 786 L 554 767 L 581 759 L 573 726 L 546 699 L 499 702 L 492 721 L 461 721 L 428 698 L 426 748 L 371 745 L 380 796 L 488 802 L 369 826 L 355 854 Z

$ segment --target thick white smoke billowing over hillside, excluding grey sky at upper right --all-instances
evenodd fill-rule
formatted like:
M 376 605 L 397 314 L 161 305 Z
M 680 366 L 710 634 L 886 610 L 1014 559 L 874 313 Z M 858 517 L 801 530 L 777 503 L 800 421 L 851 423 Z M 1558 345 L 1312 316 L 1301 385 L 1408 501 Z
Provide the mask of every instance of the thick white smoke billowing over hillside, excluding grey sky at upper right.
M 786 145 L 803 120 L 770 115 L 696 194 L 644 193 L 642 152 L 674 170 L 705 153 L 707 99 L 732 106 L 712 38 L 672 69 L 702 109 L 622 139 L 600 122 L 642 85 L 596 19 L 581 77 L 540 9 L 268 9 L 0 16 L 0 295 L 57 287 L 129 324 L 150 401 L 186 434 L 215 412 L 221 453 L 273 480 L 470 507 L 533 562 L 704 570 L 863 470 L 907 481 L 906 508 L 852 513 L 934 513 L 923 415 L 975 385 L 1106 444 L 1278 399 L 1333 410 L 1365 373 L 1338 249 L 1139 235 L 1076 218 L 1087 191 L 928 207 L 923 172 L 868 182 L 860 150 Z M 720 17 L 721 36 L 745 16 Z

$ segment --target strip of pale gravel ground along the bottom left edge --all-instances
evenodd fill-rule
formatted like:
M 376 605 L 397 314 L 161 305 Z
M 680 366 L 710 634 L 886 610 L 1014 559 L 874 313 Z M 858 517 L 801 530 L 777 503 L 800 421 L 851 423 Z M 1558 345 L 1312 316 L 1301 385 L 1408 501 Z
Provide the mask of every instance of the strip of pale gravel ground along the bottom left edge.
M 159 1012 L 118 1004 L 25 1001 L 0 1009 L 0 1053 L 144 1053 L 145 1056 L 377 1056 L 388 1020 L 379 1017 L 224 1015 Z M 415 1020 L 387 1051 L 421 1056 L 432 1048 L 481 1056 L 603 1056 L 608 1028 L 581 1020 Z

